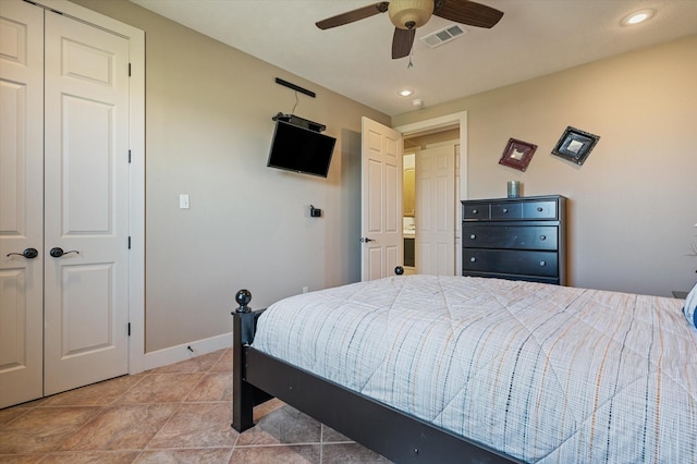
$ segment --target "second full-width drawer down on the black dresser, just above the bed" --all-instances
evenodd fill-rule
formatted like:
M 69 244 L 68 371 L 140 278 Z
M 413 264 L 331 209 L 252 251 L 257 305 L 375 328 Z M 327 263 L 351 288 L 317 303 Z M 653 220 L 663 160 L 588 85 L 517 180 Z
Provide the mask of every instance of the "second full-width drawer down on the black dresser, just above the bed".
M 463 273 L 466 271 L 558 277 L 559 262 L 554 252 L 518 249 L 463 249 Z

